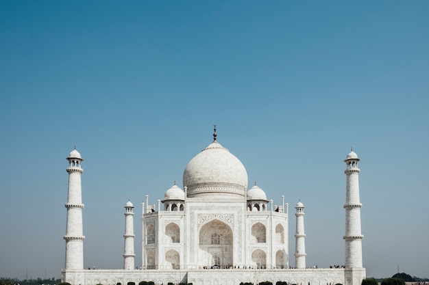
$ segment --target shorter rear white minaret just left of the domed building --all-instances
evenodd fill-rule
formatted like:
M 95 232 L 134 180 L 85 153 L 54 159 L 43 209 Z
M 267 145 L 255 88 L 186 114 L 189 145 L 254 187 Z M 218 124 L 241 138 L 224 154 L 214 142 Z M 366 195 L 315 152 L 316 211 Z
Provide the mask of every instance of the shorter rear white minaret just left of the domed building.
M 133 209 L 132 202 L 128 201 L 125 204 L 125 234 L 123 235 L 124 249 L 123 249 L 123 269 L 134 269 L 134 223 L 133 223 Z

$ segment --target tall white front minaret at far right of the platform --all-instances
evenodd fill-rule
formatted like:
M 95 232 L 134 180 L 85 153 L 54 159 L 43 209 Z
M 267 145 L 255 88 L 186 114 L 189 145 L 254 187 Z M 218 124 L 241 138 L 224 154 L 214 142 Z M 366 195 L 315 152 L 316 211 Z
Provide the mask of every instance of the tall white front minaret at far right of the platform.
M 359 172 L 358 155 L 352 151 L 347 154 L 345 185 L 345 268 L 362 268 L 362 239 L 360 232 Z

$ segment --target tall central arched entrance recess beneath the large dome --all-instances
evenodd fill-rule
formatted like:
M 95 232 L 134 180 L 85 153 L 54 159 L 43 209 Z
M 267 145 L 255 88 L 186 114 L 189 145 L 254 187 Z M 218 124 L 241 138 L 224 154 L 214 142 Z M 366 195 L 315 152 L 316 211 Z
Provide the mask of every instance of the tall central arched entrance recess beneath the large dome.
M 234 236 L 230 226 L 217 219 L 199 229 L 199 266 L 232 267 Z

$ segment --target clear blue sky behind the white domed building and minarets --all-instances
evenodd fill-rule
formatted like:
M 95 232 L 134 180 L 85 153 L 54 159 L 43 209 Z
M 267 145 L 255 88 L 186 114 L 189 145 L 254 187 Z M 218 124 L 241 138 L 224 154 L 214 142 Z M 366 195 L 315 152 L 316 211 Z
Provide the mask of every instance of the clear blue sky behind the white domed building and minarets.
M 429 1 L 0 1 L 0 277 L 60 277 L 66 157 L 85 267 L 121 269 L 125 203 L 156 204 L 218 141 L 274 204 L 306 206 L 307 265 L 344 264 L 361 159 L 368 277 L 429 277 Z M 426 153 L 426 154 L 425 154 Z

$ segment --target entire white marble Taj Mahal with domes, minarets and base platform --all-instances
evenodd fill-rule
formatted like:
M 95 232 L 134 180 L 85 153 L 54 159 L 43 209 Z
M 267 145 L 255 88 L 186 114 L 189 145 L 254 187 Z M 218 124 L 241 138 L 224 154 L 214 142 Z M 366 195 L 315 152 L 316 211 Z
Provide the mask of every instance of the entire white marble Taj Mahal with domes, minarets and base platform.
M 174 185 L 157 204 L 142 203 L 142 264 L 134 264 L 134 205 L 125 204 L 123 268 L 84 269 L 81 176 L 82 156 L 67 157 L 69 189 L 65 204 L 65 268 L 62 282 L 114 285 L 153 281 L 238 285 L 241 282 L 288 282 L 298 285 L 360 285 L 365 278 L 360 226 L 358 155 L 345 162 L 345 266 L 308 268 L 304 204 L 295 206 L 295 252 L 289 253 L 289 205 L 278 205 L 256 182 L 248 187 L 246 169 L 217 141 L 199 152 L 184 169 L 183 188 Z

